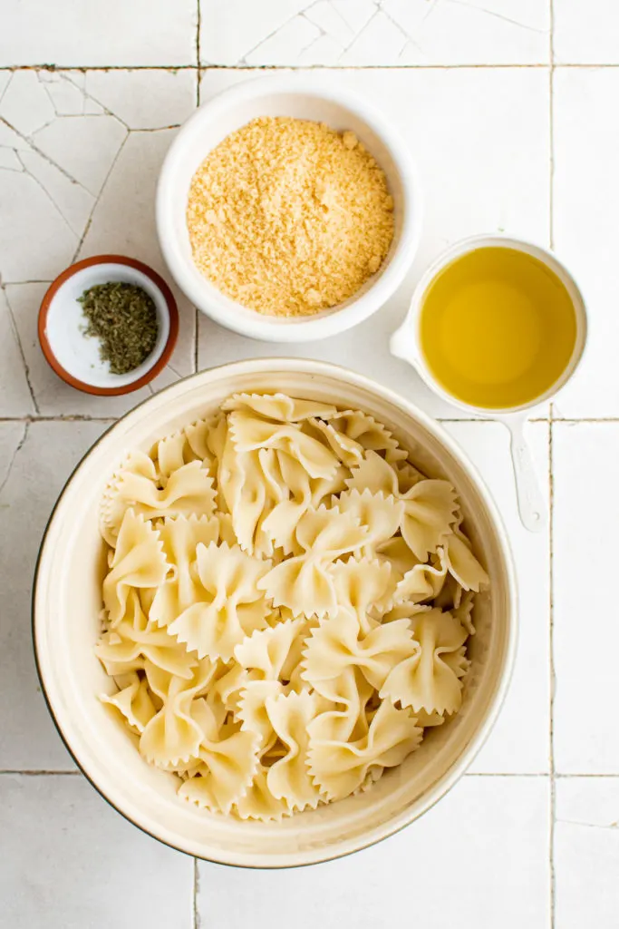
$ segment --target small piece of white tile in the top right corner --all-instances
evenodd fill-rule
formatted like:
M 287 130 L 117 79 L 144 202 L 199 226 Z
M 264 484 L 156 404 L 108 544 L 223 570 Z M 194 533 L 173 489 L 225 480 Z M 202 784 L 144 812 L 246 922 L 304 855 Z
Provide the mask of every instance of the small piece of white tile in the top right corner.
M 561 64 L 617 64 L 619 7 L 614 0 L 559 0 L 554 5 L 554 55 Z

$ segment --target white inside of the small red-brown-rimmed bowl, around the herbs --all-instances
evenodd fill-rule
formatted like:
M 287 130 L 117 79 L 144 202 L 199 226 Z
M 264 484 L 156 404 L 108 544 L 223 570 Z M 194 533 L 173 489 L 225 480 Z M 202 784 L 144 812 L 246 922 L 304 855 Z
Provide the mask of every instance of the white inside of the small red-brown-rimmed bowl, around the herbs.
M 111 373 L 109 362 L 99 357 L 99 340 L 84 335 L 87 320 L 78 302 L 90 287 L 116 281 L 141 287 L 152 299 L 157 311 L 155 347 L 141 364 L 125 374 Z M 52 297 L 47 309 L 45 334 L 58 363 L 72 377 L 93 387 L 123 387 L 139 380 L 160 360 L 170 335 L 170 314 L 165 297 L 148 274 L 113 262 L 89 265 L 71 274 Z

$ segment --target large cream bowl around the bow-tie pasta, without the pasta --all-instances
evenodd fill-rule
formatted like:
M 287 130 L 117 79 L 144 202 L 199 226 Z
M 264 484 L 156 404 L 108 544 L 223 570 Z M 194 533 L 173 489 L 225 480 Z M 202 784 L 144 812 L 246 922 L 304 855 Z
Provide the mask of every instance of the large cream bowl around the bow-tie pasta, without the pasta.
M 432 729 L 417 752 L 368 792 L 281 823 L 211 814 L 176 795 L 173 775 L 147 765 L 126 728 L 97 695 L 113 684 L 94 654 L 104 546 L 98 507 L 131 449 L 219 409 L 236 391 L 281 390 L 372 414 L 393 429 L 432 477 L 457 488 L 466 530 L 491 578 L 476 601 L 471 671 L 460 712 Z M 190 855 L 247 867 L 290 867 L 378 842 L 419 817 L 464 773 L 505 696 L 516 639 L 514 574 L 505 530 L 471 464 L 443 429 L 361 374 L 319 361 L 242 361 L 195 374 L 146 400 L 100 438 L 62 492 L 45 532 L 33 596 L 33 636 L 45 697 L 58 731 L 97 790 L 144 831 Z

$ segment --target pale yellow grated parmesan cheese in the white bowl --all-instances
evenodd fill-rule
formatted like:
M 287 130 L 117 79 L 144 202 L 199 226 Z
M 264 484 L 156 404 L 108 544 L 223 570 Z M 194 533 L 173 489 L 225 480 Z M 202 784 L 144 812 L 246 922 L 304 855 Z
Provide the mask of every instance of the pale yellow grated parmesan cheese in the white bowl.
M 347 300 L 393 240 L 393 198 L 350 131 L 260 117 L 194 175 L 187 228 L 201 273 L 260 313 L 304 316 Z

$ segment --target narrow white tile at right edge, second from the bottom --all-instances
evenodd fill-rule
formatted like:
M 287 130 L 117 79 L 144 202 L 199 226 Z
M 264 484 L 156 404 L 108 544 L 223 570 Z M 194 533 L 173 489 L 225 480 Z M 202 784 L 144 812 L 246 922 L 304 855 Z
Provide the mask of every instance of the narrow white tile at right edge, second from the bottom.
M 618 448 L 619 423 L 553 426 L 554 755 L 562 774 L 619 774 L 619 499 L 608 479 Z

